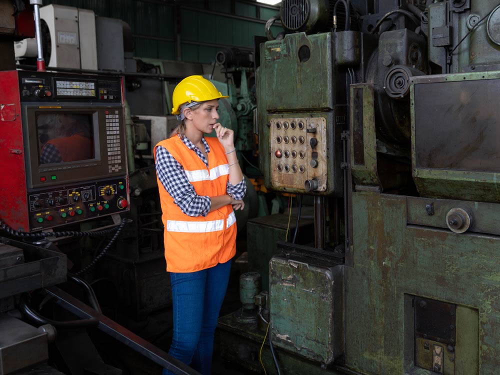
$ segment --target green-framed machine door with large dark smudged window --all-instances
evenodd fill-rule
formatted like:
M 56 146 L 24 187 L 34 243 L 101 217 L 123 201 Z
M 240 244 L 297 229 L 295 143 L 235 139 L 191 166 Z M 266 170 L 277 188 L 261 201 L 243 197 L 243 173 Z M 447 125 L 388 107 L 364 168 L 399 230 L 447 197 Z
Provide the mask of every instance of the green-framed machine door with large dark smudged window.
M 498 79 L 499 71 L 411 79 L 412 174 L 420 195 L 500 202 L 496 133 L 484 127 L 496 128 Z

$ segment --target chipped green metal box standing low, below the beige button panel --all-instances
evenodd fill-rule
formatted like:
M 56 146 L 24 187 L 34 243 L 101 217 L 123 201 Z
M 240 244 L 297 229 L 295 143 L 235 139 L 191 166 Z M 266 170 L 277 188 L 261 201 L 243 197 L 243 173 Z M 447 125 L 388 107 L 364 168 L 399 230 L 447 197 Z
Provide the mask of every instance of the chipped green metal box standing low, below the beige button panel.
M 321 363 L 343 352 L 343 266 L 299 255 L 269 262 L 273 344 Z

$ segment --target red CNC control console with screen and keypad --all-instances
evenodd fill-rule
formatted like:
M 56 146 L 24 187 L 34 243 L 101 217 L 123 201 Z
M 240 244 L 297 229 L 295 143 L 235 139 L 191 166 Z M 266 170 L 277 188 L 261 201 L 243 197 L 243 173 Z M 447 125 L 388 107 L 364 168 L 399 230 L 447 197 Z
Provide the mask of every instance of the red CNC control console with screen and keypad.
M 0 73 L 3 221 L 33 231 L 128 210 L 121 79 Z

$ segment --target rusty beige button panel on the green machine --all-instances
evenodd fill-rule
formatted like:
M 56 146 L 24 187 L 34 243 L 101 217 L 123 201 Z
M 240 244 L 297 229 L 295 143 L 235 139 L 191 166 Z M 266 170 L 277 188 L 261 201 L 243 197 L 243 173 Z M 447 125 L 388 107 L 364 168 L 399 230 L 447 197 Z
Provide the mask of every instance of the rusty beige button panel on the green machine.
M 270 125 L 271 184 L 306 192 L 325 191 L 327 141 L 324 117 L 275 117 Z

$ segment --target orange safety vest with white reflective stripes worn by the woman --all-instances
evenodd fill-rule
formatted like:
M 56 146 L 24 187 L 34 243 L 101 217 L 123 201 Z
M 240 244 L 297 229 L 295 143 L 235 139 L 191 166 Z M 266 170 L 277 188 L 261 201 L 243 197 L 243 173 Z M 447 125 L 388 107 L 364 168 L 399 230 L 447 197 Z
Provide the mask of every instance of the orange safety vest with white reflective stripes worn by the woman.
M 229 165 L 224 148 L 217 138 L 205 138 L 210 146 L 208 168 L 199 156 L 177 136 L 164 139 L 163 146 L 184 168 L 187 179 L 198 195 L 216 196 L 226 193 Z M 224 263 L 236 253 L 236 216 L 227 204 L 206 216 L 188 216 L 173 202 L 157 178 L 165 227 L 166 270 L 194 272 Z

